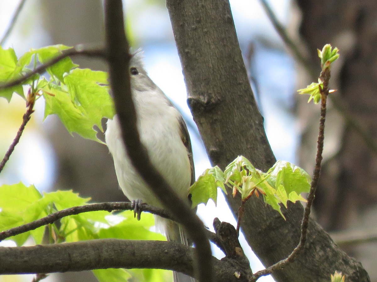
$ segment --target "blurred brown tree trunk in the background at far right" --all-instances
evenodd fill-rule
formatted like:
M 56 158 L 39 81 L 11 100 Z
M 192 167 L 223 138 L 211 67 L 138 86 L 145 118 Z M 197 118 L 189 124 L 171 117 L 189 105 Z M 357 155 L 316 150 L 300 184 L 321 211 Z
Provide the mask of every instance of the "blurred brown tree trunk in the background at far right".
M 340 49 L 342 66 L 338 79 L 338 96 L 350 114 L 367 130 L 375 141 L 377 137 L 377 2 L 375 0 L 298 0 L 303 13 L 300 33 L 309 50 L 331 43 Z M 329 12 L 331 11 L 331 12 Z M 329 123 L 334 121 L 329 120 Z M 336 125 L 342 128 L 341 124 Z M 307 158 L 305 136 L 300 155 Z M 330 133 L 330 132 L 329 132 Z M 329 135 L 331 138 L 331 133 Z M 318 221 L 326 230 L 371 228 L 377 212 L 377 156 L 365 145 L 358 134 L 346 126 L 333 136 L 337 148 L 329 155 L 321 171 L 315 202 Z M 349 247 L 347 252 L 360 259 L 371 280 L 377 281 L 375 248 Z

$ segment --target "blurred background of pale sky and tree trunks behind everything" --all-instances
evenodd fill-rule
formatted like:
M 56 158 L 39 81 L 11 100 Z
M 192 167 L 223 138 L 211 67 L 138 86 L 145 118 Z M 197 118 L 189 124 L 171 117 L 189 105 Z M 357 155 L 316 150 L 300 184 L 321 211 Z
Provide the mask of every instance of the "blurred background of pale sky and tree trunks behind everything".
M 341 60 L 332 69 L 331 87 L 338 89 L 347 115 L 365 127 L 375 139 L 377 58 L 377 3 L 372 0 L 270 0 L 277 19 L 298 42 L 300 50 L 320 71 L 316 49 L 331 43 L 340 49 Z M 0 1 L 0 38 L 8 28 L 19 2 Z M 250 83 L 265 118 L 265 129 L 277 159 L 293 162 L 309 173 L 313 170 L 319 107 L 307 105 L 296 89 L 310 84 L 308 71 L 296 62 L 270 23 L 261 1 L 230 0 L 239 44 Z M 179 108 L 193 143 L 196 177 L 210 167 L 201 138 L 186 103 L 186 89 L 176 51 L 169 15 L 163 0 L 124 0 L 128 36 L 134 50 L 144 50 L 145 65 L 152 80 Z M 104 42 L 103 3 L 100 0 L 26 0 L 15 27 L 3 48 L 17 56 L 30 48 L 52 44 L 101 44 Z M 310 50 L 307 51 L 307 50 Z M 75 58 L 80 67 L 106 70 L 99 60 Z M 315 79 L 314 79 L 315 80 Z M 41 101 L 38 101 L 41 102 Z M 43 103 L 26 126 L 20 143 L 0 175 L 0 184 L 22 181 L 40 191 L 69 190 L 93 202 L 122 201 L 113 161 L 106 146 L 71 136 L 58 118 L 43 120 Z M 11 144 L 25 102 L 14 96 L 11 103 L 0 99 L 0 153 Z M 377 218 L 377 159 L 343 118 L 329 106 L 325 133 L 324 168 L 315 201 L 314 216 L 330 231 L 360 232 L 373 229 Z M 236 156 L 234 156 L 236 157 Z M 221 195 L 221 194 L 220 194 Z M 209 227 L 214 217 L 236 224 L 223 197 L 218 205 L 201 205 L 198 213 Z M 370 230 L 369 230 L 370 231 Z M 339 235 L 339 234 L 338 234 Z M 263 268 L 244 239 L 243 247 L 253 271 Z M 6 244 L 10 244 L 9 242 Z M 372 281 L 376 243 L 345 244 L 346 252 L 362 261 Z M 213 248 L 216 256 L 222 253 Z M 45 281 L 96 281 L 90 272 L 53 274 Z M 32 276 L 0 276 L 0 281 L 31 281 Z M 263 277 L 258 281 L 273 281 Z

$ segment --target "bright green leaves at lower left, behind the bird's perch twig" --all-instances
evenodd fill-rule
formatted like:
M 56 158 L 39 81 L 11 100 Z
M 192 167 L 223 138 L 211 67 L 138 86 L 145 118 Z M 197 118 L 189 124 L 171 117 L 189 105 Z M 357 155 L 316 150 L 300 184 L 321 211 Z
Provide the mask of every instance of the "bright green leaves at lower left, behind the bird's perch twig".
M 38 220 L 53 212 L 73 206 L 85 205 L 90 200 L 72 191 L 55 191 L 41 194 L 34 185 L 22 183 L 0 186 L 0 231 Z M 166 240 L 159 233 L 150 231 L 154 225 L 153 215 L 143 214 L 135 220 L 132 211 L 112 214 L 92 211 L 64 217 L 48 226 L 21 233 L 9 239 L 17 246 L 31 238 L 35 244 L 54 244 L 91 239 L 118 238 L 126 240 Z M 46 235 L 48 234 L 48 235 Z M 93 273 L 100 282 L 127 281 L 136 277 L 140 281 L 166 281 L 169 271 L 154 269 L 98 269 Z

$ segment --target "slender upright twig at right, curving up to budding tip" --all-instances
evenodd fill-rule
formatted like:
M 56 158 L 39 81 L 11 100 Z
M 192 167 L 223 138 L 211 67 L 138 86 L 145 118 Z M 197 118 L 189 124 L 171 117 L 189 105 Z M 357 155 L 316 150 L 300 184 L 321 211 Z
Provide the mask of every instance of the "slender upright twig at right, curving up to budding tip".
M 313 179 L 310 183 L 310 191 L 308 195 L 308 202 L 305 206 L 302 221 L 301 221 L 301 236 L 299 244 L 296 248 L 294 248 L 293 252 L 285 259 L 282 259 L 281 261 L 277 262 L 274 265 L 271 265 L 270 267 L 267 267 L 264 270 L 258 271 L 253 275 L 251 278 L 251 281 L 256 281 L 259 277 L 265 276 L 268 274 L 273 273 L 274 271 L 280 270 L 284 268 L 287 264 L 290 264 L 293 262 L 299 253 L 303 250 L 305 247 L 305 243 L 307 241 L 307 232 L 308 232 L 308 225 L 309 225 L 309 215 L 311 211 L 311 206 L 313 205 L 314 201 L 314 195 L 316 193 L 316 188 L 319 180 L 319 174 L 321 170 L 321 162 L 322 162 L 322 151 L 323 151 L 323 139 L 325 137 L 325 120 L 326 120 L 326 101 L 327 96 L 329 93 L 328 83 L 330 79 L 330 70 L 329 68 L 325 68 L 320 74 L 320 79 L 323 82 L 323 88 L 319 86 L 320 94 L 321 94 L 321 113 L 319 118 L 319 133 L 318 133 L 318 139 L 317 139 L 317 154 L 316 154 L 316 165 L 314 166 L 313 171 Z

